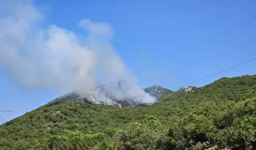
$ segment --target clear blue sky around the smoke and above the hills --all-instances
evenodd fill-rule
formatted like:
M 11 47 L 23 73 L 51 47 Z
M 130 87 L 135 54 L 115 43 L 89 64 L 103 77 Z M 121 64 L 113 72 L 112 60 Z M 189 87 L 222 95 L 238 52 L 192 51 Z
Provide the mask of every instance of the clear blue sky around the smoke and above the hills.
M 172 56 L 202 40 L 256 16 L 254 0 L 37 0 L 44 14 L 41 28 L 55 24 L 60 28 L 87 35 L 78 22 L 88 18 L 111 25 L 110 43 L 116 53 L 146 88 L 160 85 L 174 89 L 256 57 L 256 41 L 197 63 L 220 52 L 256 39 L 256 19 L 216 38 Z M 256 74 L 256 61 L 201 80 L 193 86 L 204 86 L 223 76 Z M 177 68 L 186 66 L 183 70 Z M 169 74 L 166 74 L 170 72 Z M 162 75 L 166 74 L 166 75 Z M 0 110 L 13 110 L 16 118 L 60 96 L 54 90 L 24 90 L 12 82 L 0 68 Z

